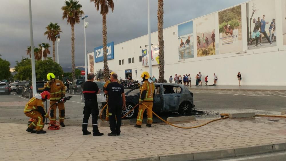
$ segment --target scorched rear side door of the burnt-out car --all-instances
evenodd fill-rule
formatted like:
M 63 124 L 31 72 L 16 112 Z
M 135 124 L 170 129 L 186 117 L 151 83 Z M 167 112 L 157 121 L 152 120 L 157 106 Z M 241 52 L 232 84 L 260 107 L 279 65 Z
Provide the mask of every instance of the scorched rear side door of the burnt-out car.
M 176 111 L 180 102 L 181 88 L 174 85 L 163 85 L 164 112 Z

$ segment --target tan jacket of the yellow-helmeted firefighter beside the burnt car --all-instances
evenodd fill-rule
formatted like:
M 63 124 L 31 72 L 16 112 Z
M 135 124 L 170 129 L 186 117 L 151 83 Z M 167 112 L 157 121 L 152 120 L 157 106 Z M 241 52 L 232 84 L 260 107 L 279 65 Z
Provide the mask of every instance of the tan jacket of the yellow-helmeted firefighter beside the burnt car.
M 145 80 L 142 87 L 141 87 L 141 96 L 139 102 L 142 103 L 143 101 L 146 102 L 153 102 L 153 94 L 155 91 L 154 83 L 148 82 Z

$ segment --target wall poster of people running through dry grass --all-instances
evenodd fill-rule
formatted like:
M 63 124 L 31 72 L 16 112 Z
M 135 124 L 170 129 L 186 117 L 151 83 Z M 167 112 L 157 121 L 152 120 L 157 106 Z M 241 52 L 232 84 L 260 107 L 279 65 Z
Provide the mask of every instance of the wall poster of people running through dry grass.
M 215 55 L 215 14 L 194 21 L 196 24 L 197 57 Z

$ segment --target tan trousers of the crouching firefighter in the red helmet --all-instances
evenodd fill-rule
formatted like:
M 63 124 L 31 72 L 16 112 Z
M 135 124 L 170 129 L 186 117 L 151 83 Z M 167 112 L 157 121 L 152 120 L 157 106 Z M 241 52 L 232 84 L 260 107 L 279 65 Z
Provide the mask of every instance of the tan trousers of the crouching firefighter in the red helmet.
M 33 110 L 31 112 L 25 113 L 26 116 L 35 119 L 31 124 L 28 126 L 30 129 L 35 129 L 37 131 L 43 130 L 45 118 L 39 111 Z

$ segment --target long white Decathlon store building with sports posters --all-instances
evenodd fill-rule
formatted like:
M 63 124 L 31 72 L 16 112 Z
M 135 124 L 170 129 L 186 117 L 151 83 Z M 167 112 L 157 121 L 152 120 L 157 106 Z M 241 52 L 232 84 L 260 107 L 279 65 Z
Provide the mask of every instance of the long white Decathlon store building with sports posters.
M 222 34 L 219 33 L 219 16 L 223 14 L 225 10 L 221 10 L 215 13 L 211 13 L 206 16 L 202 16 L 188 22 L 192 21 L 192 30 L 190 45 L 193 44 L 193 56 L 189 55 L 190 58 L 182 58 L 179 54 L 179 41 L 181 39 L 180 35 L 180 25 L 188 22 L 184 22 L 172 27 L 164 29 L 164 58 L 165 58 L 165 75 L 164 79 L 169 80 L 170 75 L 174 77 L 175 73 L 178 75 L 191 75 L 191 84 L 195 84 L 196 74 L 202 73 L 202 83 L 204 84 L 204 77 L 208 75 L 208 84 L 213 84 L 213 73 L 218 77 L 217 85 L 238 85 L 237 73 L 241 72 L 242 80 L 241 85 L 265 85 L 265 86 L 285 86 L 286 85 L 286 74 L 285 74 L 285 60 L 286 60 L 286 10 L 285 10 L 285 0 L 273 0 L 274 13 L 259 13 L 259 11 L 265 11 L 263 8 L 259 8 L 259 3 L 266 0 L 253 0 L 248 3 L 242 3 L 227 9 L 232 9 L 234 7 L 241 6 L 241 23 L 238 26 L 241 27 L 236 30 L 237 35 L 241 41 L 235 42 L 237 40 L 229 41 L 230 43 L 224 43 L 225 37 L 221 37 Z M 262 46 L 254 47 L 255 40 L 253 40 L 252 45 L 248 49 L 248 41 L 250 36 L 249 31 L 253 31 L 255 26 L 251 22 L 250 16 L 253 12 L 253 4 L 256 4 L 257 12 L 254 12 L 253 18 L 263 17 L 266 15 L 265 20 L 269 23 L 265 27 L 265 31 L 269 36 L 269 26 L 273 17 L 275 18 L 275 24 L 279 24 L 275 28 L 275 40 L 270 45 L 266 38 L 263 37 Z M 267 4 L 267 5 L 266 5 Z M 263 3 L 265 7 L 269 7 L 269 3 Z M 283 7 L 284 5 L 284 7 Z M 282 7 L 281 7 L 282 6 Z M 254 8 L 255 9 L 255 8 Z M 259 10 L 258 10 L 259 9 Z M 285 10 L 285 11 L 284 11 Z M 269 15 L 269 17 L 267 17 Z M 272 15 L 272 16 L 270 16 Z M 207 19 L 206 17 L 214 17 L 214 33 L 215 33 L 215 55 L 207 54 L 204 56 L 199 56 L 197 54 L 197 39 L 196 37 L 201 35 L 199 31 L 203 27 L 200 27 L 200 21 Z M 147 19 L 146 19 L 147 21 Z M 210 19 L 209 19 L 210 21 Z M 239 20 L 240 21 L 240 20 Z M 249 22 L 249 23 L 247 23 Z M 251 22 L 251 27 L 248 30 L 248 25 Z M 146 26 L 147 27 L 147 26 Z M 207 28 L 207 27 L 206 27 Z M 211 27 L 210 27 L 211 28 Z M 284 29 L 285 28 L 285 29 Z M 179 29 L 179 31 L 178 31 Z M 235 30 L 235 29 L 234 29 Z M 208 44 L 207 50 L 211 51 L 211 38 L 210 35 L 205 32 L 206 37 L 208 36 L 210 44 Z M 223 34 L 224 31 L 223 31 Z M 235 34 L 235 32 L 233 32 Z M 283 35 L 285 38 L 283 39 Z M 234 37 L 234 36 L 233 36 Z M 231 38 L 233 38 L 231 37 Z M 237 38 L 238 39 L 238 38 Z M 183 40 L 184 42 L 185 40 Z M 283 42 L 284 41 L 284 42 Z M 109 41 L 108 41 L 109 42 Z M 201 40 L 203 45 L 203 40 Z M 158 44 L 158 32 L 151 33 L 151 43 L 154 44 L 152 47 L 156 48 Z M 236 43 L 236 44 L 235 44 Z M 110 44 L 112 47 L 109 47 Z M 148 48 L 148 35 L 137 37 L 135 39 L 125 41 L 113 46 L 113 43 L 108 44 L 108 67 L 110 70 L 117 73 L 118 78 L 122 77 L 124 79 L 128 75 L 132 75 L 132 79 L 136 80 L 136 77 L 141 81 L 140 75 L 142 71 L 148 71 L 148 66 L 142 65 L 142 50 Z M 185 44 L 186 45 L 186 44 Z M 199 49 L 203 50 L 201 46 Z M 185 46 L 184 46 L 185 47 Z M 187 45 L 186 45 L 187 47 Z M 100 48 L 100 47 L 99 47 Z M 97 73 L 98 70 L 103 69 L 103 54 L 95 48 L 95 52 L 88 53 L 88 69 Z M 226 48 L 228 48 L 226 50 Z M 182 48 L 183 49 L 183 48 Z M 191 49 L 191 47 L 190 47 Z M 221 50 L 220 50 L 221 49 Z M 222 51 L 231 51 L 227 53 L 222 53 Z M 233 50 L 232 50 L 233 49 Z M 109 51 L 110 50 L 110 51 Z M 184 50 L 184 49 L 183 49 Z M 187 49 L 186 49 L 187 50 Z M 234 51 L 237 50 L 237 51 Z M 99 52 L 98 52 L 99 51 Z M 148 49 L 147 49 L 148 51 Z M 112 55 L 112 53 L 114 55 Z M 184 55 L 183 55 L 184 56 Z M 156 57 L 154 57 L 156 64 Z M 91 60 L 90 60 L 91 59 Z M 99 61 L 99 62 L 96 62 Z M 91 63 L 92 62 L 92 63 Z M 137 75 L 136 71 L 137 70 Z M 158 65 L 152 65 L 152 76 L 156 79 L 159 77 Z

